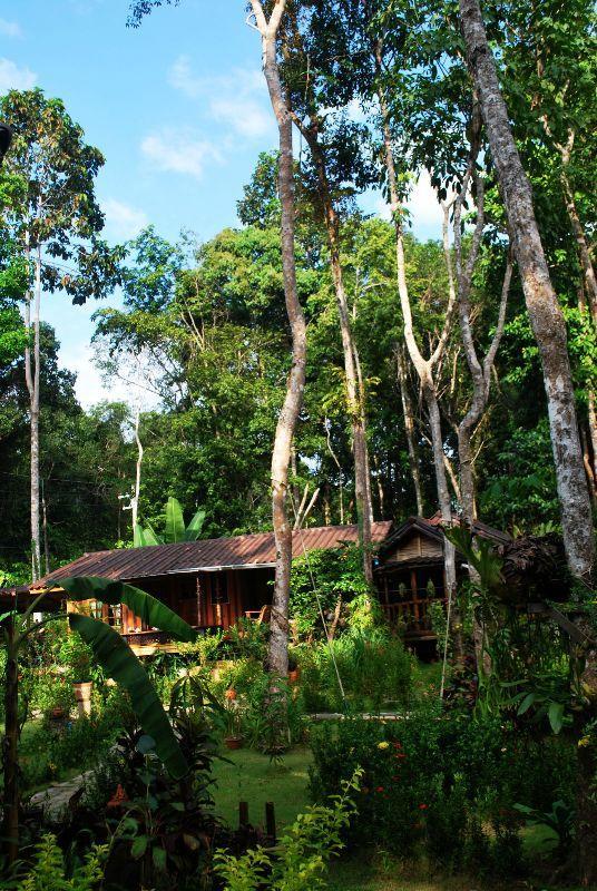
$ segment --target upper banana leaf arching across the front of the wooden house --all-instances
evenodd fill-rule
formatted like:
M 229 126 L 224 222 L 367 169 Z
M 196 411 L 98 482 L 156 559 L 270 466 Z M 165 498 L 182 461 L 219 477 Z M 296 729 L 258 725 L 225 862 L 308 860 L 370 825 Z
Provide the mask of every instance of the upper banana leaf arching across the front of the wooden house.
M 197 639 L 197 631 L 173 613 L 166 604 L 133 585 L 98 576 L 63 578 L 57 585 L 63 588 L 71 600 L 101 600 L 111 606 L 125 604 L 150 628 L 159 628 L 160 631 L 187 644 Z

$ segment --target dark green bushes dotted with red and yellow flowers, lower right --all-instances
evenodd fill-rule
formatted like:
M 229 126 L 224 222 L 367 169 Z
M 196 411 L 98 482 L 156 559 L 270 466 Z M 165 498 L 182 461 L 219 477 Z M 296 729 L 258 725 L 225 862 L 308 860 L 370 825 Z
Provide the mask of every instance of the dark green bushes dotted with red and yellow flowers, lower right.
M 522 797 L 538 806 L 574 795 L 575 755 L 565 740 L 520 740 L 511 725 L 442 714 L 439 704 L 395 722 L 326 722 L 312 731 L 311 746 L 315 801 L 364 765 L 352 844 L 401 855 L 424 848 L 451 869 L 517 872 L 515 803 Z

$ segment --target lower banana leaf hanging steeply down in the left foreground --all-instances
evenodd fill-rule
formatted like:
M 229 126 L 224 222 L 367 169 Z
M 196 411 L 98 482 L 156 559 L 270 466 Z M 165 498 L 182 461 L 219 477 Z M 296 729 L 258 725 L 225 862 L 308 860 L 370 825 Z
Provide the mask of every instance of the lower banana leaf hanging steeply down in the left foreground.
M 71 613 L 68 620 L 91 647 L 108 677 L 127 691 L 143 730 L 155 741 L 157 756 L 172 776 L 180 780 L 188 773 L 188 764 L 145 668 L 126 640 L 105 621 L 90 616 Z

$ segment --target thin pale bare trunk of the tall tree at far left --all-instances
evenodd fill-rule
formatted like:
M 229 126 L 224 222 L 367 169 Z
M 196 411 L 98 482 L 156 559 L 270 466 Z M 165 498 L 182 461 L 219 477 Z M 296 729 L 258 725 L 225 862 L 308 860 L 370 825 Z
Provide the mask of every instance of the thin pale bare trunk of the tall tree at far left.
M 26 253 L 29 257 L 29 234 L 26 235 Z M 25 306 L 25 323 L 33 336 L 33 353 L 28 342 L 25 350 L 25 378 L 29 393 L 30 425 L 30 513 L 31 513 L 31 576 L 37 581 L 41 575 L 40 491 L 39 491 L 39 374 L 40 374 L 40 310 L 41 310 L 41 249 L 35 260 L 33 320 L 31 332 L 31 294 Z

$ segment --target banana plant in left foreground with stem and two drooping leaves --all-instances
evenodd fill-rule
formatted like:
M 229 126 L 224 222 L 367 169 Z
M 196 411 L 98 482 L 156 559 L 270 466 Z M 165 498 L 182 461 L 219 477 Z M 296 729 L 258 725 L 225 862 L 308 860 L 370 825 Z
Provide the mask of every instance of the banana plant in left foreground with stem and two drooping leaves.
M 197 637 L 197 633 L 169 607 L 133 585 L 106 578 L 81 576 L 61 579 L 53 587 L 62 588 L 69 600 L 74 601 L 99 600 L 111 606 L 124 604 L 148 625 L 166 631 L 177 640 L 192 643 Z M 32 599 L 23 613 L 11 610 L 0 616 L 0 627 L 7 648 L 2 835 L 9 862 L 14 862 L 19 852 L 18 748 L 21 724 L 19 718 L 19 655 L 33 634 L 39 633 L 49 621 L 63 618 L 63 614 L 52 615 L 39 623 L 31 624 L 33 613 L 43 611 L 43 601 L 47 597 L 48 591 L 45 590 Z M 71 629 L 77 631 L 91 648 L 94 657 L 106 675 L 114 678 L 128 692 L 141 727 L 154 740 L 156 754 L 172 776 L 175 779 L 185 776 L 188 773 L 188 764 L 168 716 L 147 672 L 126 640 L 109 625 L 91 616 L 69 613 L 68 621 Z

